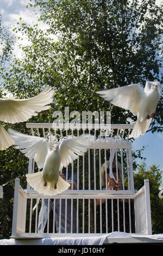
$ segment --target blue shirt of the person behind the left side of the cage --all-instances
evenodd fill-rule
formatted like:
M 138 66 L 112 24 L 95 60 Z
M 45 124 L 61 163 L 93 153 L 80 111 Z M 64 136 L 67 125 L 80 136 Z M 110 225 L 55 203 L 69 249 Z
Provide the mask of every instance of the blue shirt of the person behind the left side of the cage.
M 64 172 L 62 172 L 64 173 Z M 66 176 L 66 173 L 64 173 Z M 67 181 L 72 181 L 72 171 L 68 169 L 68 175 L 67 175 Z M 77 173 L 73 172 L 73 184 L 74 188 L 77 188 Z M 54 209 L 54 200 L 51 199 L 44 199 L 43 200 L 43 222 L 42 222 L 42 205 L 41 209 L 39 212 L 39 221 L 38 221 L 38 227 L 37 227 L 37 232 L 41 233 L 41 227 L 42 227 L 42 232 L 44 231 L 46 227 L 46 223 L 48 220 L 48 200 L 49 200 L 49 212 Z M 61 202 L 61 216 L 59 217 L 60 214 L 60 202 Z M 73 217 L 72 217 L 72 230 L 71 230 L 71 203 L 73 204 L 71 199 L 67 199 L 67 229 L 65 230 L 65 221 L 66 221 L 66 214 L 65 214 L 65 206 L 66 206 L 66 199 L 55 199 L 55 228 L 57 233 L 77 233 L 77 212 L 76 209 L 74 208 L 74 205 L 72 205 L 73 209 Z M 60 220 L 60 230 L 59 230 L 59 218 Z M 42 223 L 42 224 L 41 224 Z

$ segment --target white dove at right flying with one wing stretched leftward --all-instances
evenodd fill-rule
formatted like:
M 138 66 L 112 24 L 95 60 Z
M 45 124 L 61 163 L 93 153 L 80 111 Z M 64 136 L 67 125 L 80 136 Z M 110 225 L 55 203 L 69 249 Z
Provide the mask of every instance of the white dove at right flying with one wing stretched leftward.
M 155 118 L 156 106 L 161 94 L 159 86 L 159 82 L 147 81 L 145 90 L 139 84 L 130 84 L 96 93 L 101 94 L 113 105 L 129 109 L 133 115 L 137 115 L 134 129 L 129 136 L 137 138 L 146 133 L 152 118 Z

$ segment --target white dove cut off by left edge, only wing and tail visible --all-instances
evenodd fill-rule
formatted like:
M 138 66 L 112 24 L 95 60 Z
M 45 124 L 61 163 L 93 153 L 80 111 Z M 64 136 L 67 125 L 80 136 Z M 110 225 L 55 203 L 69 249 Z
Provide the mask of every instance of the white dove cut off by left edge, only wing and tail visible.
M 46 110 L 53 101 L 54 90 L 50 87 L 30 99 L 0 99 L 0 120 L 15 124 L 27 121 L 38 112 Z M 36 113 L 37 112 L 37 113 Z M 0 124 L 0 150 L 7 149 L 14 141 Z

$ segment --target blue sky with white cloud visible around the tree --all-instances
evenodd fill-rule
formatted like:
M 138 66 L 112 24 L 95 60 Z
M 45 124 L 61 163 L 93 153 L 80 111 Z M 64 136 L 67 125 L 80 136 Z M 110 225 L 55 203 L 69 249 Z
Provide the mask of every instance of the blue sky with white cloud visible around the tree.
M 160 0 L 156 1 L 158 4 Z M 22 17 L 23 21 L 27 23 L 35 23 L 36 17 L 35 13 L 29 8 L 26 8 L 26 5 L 29 3 L 29 0 L 0 0 L 0 10 L 2 13 L 3 25 L 11 27 L 10 31 L 12 32 L 12 26 L 19 21 L 19 18 Z M 40 26 L 43 27 L 43 23 L 40 23 Z M 24 39 L 24 44 L 27 41 Z M 18 51 L 18 47 L 15 46 L 15 53 L 17 56 L 21 56 L 21 52 Z M 162 133 L 152 133 L 147 132 L 145 135 L 136 138 L 133 142 L 133 149 L 141 149 L 142 146 L 146 146 L 146 150 L 143 153 L 143 156 L 146 157 L 147 166 L 155 163 L 160 166 L 160 169 L 163 169 L 163 132 Z

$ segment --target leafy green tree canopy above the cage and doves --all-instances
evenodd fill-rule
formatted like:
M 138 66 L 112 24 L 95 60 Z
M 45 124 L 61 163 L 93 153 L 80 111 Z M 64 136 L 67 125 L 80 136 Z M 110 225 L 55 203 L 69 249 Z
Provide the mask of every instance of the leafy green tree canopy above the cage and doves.
M 13 93 L 55 87 L 55 109 L 110 110 L 112 123 L 136 117 L 104 102 L 96 91 L 146 80 L 162 82 L 162 8 L 142 1 L 35 1 L 48 29 L 20 19 L 15 31 L 31 42 L 22 47 L 14 75 L 5 84 Z M 31 4 L 32 5 L 32 4 Z M 30 8 L 30 7 L 28 7 Z M 152 130 L 162 123 L 162 101 Z M 160 131 L 160 130 L 159 130 Z

